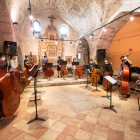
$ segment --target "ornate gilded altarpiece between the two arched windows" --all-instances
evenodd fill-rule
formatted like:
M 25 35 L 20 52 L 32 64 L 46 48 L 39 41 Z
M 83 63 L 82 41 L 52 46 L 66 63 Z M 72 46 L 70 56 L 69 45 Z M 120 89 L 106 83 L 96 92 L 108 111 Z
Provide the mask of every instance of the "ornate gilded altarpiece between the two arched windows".
M 40 36 L 40 38 L 47 38 L 47 39 L 43 39 L 39 41 L 39 46 L 38 46 L 39 65 L 40 66 L 42 65 L 42 59 L 44 58 L 44 54 L 48 56 L 48 60 L 50 63 L 56 65 L 58 59 L 58 53 L 61 52 L 62 58 L 64 56 L 63 41 L 61 41 L 61 39 L 59 38 L 58 31 L 56 30 L 55 27 L 51 27 L 49 25 L 45 33 L 42 36 Z

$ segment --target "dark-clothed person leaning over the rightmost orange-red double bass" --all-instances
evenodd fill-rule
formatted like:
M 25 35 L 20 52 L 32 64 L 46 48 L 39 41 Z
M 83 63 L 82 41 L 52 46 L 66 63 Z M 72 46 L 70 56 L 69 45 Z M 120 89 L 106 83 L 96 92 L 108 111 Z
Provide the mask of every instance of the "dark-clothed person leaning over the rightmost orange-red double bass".
M 130 67 L 132 65 L 132 62 L 125 56 L 121 56 L 120 57 L 121 61 L 122 61 L 122 64 L 121 64 L 121 72 L 120 72 L 120 75 L 118 77 L 121 77 L 122 75 L 122 72 L 123 72 L 123 65 L 126 65 L 129 67 L 129 82 L 131 82 L 131 71 L 130 71 Z M 129 84 L 129 87 L 128 87 L 128 93 L 127 93 L 127 96 L 126 98 L 129 98 L 131 95 L 130 95 L 130 84 Z

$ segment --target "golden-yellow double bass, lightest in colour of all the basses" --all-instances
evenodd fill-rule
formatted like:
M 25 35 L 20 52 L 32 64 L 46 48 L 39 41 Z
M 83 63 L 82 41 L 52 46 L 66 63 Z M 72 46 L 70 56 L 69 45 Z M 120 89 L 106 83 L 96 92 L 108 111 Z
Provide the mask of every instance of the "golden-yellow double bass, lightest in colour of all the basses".
M 95 56 L 95 60 L 97 59 L 97 56 Z M 90 82 L 91 83 L 99 83 L 100 76 L 99 76 L 99 69 L 92 68 L 91 69 L 91 76 L 90 76 Z

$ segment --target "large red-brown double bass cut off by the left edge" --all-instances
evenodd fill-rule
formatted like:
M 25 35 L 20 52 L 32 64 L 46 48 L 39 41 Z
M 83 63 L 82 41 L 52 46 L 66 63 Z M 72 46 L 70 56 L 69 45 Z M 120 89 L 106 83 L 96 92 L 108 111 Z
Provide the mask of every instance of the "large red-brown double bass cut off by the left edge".
M 0 78 L 7 74 L 6 71 L 0 70 Z M 11 85 L 11 77 L 6 76 L 0 82 L 0 117 L 12 116 L 20 104 L 20 94 Z

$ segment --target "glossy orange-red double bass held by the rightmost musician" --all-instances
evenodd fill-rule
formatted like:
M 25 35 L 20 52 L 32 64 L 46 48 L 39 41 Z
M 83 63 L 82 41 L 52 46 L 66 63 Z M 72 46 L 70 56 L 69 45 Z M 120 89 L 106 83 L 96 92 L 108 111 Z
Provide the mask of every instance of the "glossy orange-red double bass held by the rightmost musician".
M 130 56 L 132 51 L 133 50 L 130 48 L 129 53 L 125 57 Z M 120 73 L 122 73 L 121 74 L 121 87 L 120 87 L 121 95 L 127 95 L 128 88 L 129 88 L 129 67 L 124 65 L 124 63 L 123 63 L 123 68 L 121 67 L 120 69 Z M 120 76 L 120 73 L 118 77 Z

